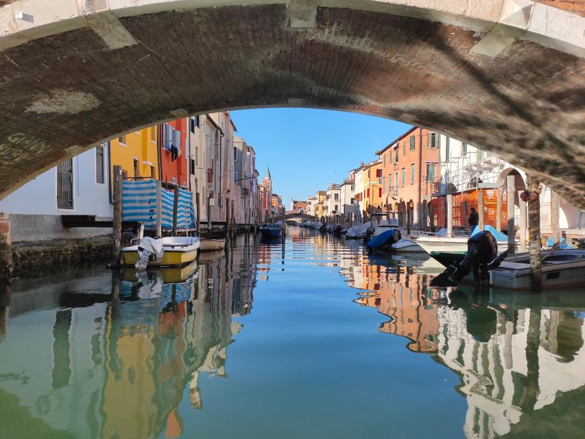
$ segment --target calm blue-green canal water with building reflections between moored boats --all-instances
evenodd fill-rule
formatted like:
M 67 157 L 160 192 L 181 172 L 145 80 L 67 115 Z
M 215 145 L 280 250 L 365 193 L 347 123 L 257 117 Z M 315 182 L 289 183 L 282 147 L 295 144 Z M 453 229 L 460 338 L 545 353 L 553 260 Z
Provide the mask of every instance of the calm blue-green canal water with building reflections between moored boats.
M 583 438 L 585 292 L 429 287 L 291 228 L 0 295 L 1 438 Z

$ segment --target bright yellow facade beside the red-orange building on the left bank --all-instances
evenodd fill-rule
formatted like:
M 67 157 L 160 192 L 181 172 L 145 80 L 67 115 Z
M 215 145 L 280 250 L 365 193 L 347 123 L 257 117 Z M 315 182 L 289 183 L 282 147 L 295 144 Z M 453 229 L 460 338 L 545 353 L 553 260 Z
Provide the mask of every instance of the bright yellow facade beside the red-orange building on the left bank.
M 158 180 L 158 126 L 124 134 L 110 141 L 111 165 L 120 165 L 126 178 Z

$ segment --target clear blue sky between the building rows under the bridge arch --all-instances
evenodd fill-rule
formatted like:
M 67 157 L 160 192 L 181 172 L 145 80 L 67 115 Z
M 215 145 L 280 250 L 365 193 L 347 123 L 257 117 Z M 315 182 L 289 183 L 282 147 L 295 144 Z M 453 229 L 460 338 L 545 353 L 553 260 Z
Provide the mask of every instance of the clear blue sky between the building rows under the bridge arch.
M 409 130 L 405 123 L 350 112 L 309 108 L 232 111 L 237 134 L 254 147 L 263 177 L 270 165 L 272 190 L 306 200 L 347 172 L 377 158 L 375 152 Z

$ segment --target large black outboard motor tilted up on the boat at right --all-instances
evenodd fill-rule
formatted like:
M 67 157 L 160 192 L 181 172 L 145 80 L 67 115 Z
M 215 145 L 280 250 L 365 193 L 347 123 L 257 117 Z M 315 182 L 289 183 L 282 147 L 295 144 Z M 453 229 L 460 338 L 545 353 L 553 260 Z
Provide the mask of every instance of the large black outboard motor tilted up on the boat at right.
M 467 274 L 473 271 L 475 281 L 486 285 L 490 280 L 490 270 L 498 267 L 508 256 L 510 249 L 499 256 L 498 243 L 487 230 L 476 233 L 467 241 L 467 253 L 460 263 L 453 263 L 431 281 L 433 287 L 454 287 Z

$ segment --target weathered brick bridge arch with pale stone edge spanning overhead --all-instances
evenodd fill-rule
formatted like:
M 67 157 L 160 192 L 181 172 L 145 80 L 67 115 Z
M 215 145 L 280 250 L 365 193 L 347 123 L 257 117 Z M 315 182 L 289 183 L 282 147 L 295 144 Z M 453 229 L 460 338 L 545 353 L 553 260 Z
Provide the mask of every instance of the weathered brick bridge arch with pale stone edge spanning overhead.
M 306 106 L 433 128 L 585 206 L 584 31 L 544 0 L 2 0 L 0 197 L 137 127 Z

